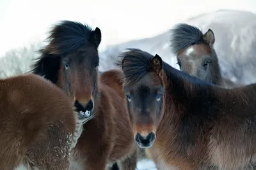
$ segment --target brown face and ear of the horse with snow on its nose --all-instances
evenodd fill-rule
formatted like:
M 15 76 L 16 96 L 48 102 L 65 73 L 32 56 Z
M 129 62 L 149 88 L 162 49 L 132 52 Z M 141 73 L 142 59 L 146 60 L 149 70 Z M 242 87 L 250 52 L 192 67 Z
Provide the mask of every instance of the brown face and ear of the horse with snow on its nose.
M 99 29 L 93 32 L 91 42 L 76 52 L 63 57 L 62 70 L 65 87 L 74 99 L 77 111 L 92 111 L 97 94 L 99 54 L 101 39 Z

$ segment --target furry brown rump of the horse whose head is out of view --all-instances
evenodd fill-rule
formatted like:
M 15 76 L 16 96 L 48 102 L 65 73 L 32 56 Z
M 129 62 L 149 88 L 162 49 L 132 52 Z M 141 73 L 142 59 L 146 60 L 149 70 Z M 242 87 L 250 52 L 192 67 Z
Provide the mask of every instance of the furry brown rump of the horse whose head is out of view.
M 0 169 L 68 169 L 77 124 L 86 117 L 35 74 L 1 79 L 0 89 Z

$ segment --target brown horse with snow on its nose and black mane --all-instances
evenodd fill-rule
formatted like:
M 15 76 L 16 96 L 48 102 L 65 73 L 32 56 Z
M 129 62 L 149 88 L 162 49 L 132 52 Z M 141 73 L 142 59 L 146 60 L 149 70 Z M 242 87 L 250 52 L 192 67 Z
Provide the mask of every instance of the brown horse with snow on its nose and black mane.
M 135 169 L 137 146 L 125 96 L 100 80 L 100 29 L 65 20 L 52 29 L 49 38 L 33 73 L 58 85 L 72 96 L 76 108 L 90 110 L 92 117 L 72 150 L 70 169 L 100 170 L 113 162 Z

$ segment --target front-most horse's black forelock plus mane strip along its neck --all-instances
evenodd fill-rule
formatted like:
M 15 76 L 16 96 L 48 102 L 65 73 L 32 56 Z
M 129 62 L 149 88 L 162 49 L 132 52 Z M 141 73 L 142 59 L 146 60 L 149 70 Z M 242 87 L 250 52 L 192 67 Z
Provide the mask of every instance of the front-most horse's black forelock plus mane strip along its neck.
M 150 60 L 152 60 L 154 56 L 136 48 L 127 48 L 127 50 L 127 52 L 122 52 L 118 55 L 118 61 L 115 64 L 123 70 L 124 85 L 134 85 L 150 71 Z M 166 62 L 163 62 L 163 69 L 166 74 L 171 73 L 172 77 L 174 74 L 182 77 L 182 79 L 177 79 L 177 81 L 184 79 L 197 83 L 198 85 L 215 86 L 214 83 L 199 80 L 186 72 L 179 71 Z

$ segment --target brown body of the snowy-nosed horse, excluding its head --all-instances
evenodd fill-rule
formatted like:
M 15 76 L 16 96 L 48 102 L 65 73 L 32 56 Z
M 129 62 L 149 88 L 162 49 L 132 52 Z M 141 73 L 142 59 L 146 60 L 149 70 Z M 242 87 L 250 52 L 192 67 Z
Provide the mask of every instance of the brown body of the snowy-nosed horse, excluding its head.
M 100 77 L 95 117 L 84 124 L 83 134 L 74 151 L 75 162 L 81 166 L 72 169 L 105 169 L 107 164 L 116 161 L 121 169 L 136 168 L 137 146 L 125 98 L 120 95 L 122 89 L 115 84 L 120 82 L 115 81 L 113 73 L 118 78 L 120 71 L 106 71 Z M 113 84 L 109 86 L 111 82 Z

